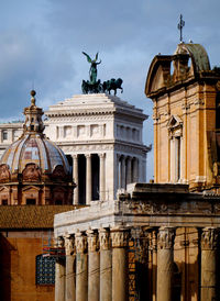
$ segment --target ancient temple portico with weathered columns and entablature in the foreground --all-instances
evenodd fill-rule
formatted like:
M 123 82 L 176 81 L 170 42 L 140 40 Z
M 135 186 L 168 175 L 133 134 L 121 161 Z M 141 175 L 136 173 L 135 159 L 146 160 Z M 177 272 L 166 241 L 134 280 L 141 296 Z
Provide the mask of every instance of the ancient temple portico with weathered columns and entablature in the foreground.
M 116 201 L 55 215 L 55 238 L 70 238 L 78 258 L 68 300 L 219 300 L 219 196 L 156 183 L 129 185 Z

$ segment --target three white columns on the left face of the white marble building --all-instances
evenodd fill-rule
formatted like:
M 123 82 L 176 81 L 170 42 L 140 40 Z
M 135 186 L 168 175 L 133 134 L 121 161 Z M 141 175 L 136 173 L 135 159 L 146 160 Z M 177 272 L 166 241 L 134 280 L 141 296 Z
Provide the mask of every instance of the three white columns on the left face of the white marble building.
M 92 199 L 92 174 L 91 174 L 91 154 L 86 154 L 86 204 L 90 204 Z M 105 200 L 106 191 L 106 154 L 98 154 L 99 156 L 99 198 L 101 201 Z M 79 177 L 78 177 L 78 155 L 73 155 L 73 179 L 77 185 L 74 190 L 74 204 L 79 204 Z

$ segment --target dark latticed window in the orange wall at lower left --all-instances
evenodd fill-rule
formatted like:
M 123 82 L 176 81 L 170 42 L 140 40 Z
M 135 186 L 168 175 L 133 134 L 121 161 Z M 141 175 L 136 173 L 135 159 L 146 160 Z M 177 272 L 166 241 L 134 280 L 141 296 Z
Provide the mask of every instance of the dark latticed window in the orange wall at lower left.
M 36 285 L 55 285 L 55 257 L 37 255 L 36 256 Z

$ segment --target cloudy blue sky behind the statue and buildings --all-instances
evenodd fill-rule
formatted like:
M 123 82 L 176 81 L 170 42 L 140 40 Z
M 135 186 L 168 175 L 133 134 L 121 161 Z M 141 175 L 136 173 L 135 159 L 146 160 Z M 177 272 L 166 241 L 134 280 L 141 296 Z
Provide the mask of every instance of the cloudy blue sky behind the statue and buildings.
M 81 93 L 89 69 L 81 52 L 99 52 L 98 78 L 123 79 L 118 96 L 148 115 L 143 141 L 153 144 L 150 64 L 175 52 L 182 13 L 184 42 L 204 45 L 220 66 L 219 12 L 219 0 L 0 0 L 0 122 L 23 119 L 33 88 L 44 110 Z M 146 175 L 153 178 L 153 149 Z

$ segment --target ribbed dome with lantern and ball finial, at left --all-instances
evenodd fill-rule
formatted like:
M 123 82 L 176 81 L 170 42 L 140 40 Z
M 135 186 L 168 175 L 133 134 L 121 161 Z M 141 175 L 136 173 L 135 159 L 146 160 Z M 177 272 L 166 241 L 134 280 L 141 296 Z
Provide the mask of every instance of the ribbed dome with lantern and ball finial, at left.
M 70 176 L 68 160 L 63 150 L 43 134 L 43 111 L 35 105 L 35 91 L 31 94 L 32 104 L 24 109 L 23 134 L 1 158 L 0 180 L 16 180 L 19 175 L 24 181 L 65 180 Z

